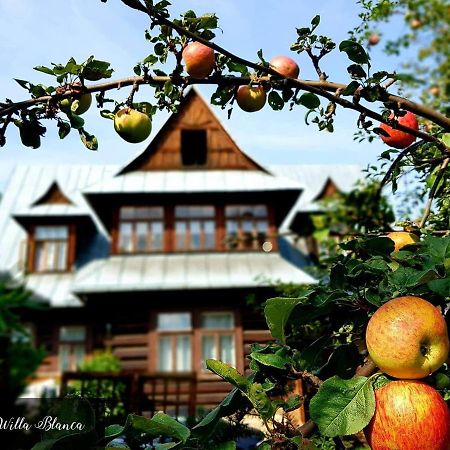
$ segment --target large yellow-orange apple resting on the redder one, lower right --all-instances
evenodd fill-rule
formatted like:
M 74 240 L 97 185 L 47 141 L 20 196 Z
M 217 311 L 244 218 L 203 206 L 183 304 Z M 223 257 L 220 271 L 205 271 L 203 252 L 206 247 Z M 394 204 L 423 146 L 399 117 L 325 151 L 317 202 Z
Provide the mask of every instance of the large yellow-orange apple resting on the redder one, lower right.
M 382 372 L 424 378 L 448 358 L 447 325 L 438 308 L 420 297 L 398 297 L 381 306 L 366 330 L 367 350 Z

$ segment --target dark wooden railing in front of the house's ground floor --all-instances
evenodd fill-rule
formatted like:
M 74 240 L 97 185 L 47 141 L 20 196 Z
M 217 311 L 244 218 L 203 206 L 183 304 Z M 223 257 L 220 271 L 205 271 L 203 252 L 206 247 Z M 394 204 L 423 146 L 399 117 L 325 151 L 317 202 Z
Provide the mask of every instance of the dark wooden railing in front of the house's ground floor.
M 175 418 L 194 417 L 197 378 L 195 374 L 133 374 L 65 372 L 61 396 L 70 391 L 123 405 L 125 412 L 152 416 L 163 411 Z

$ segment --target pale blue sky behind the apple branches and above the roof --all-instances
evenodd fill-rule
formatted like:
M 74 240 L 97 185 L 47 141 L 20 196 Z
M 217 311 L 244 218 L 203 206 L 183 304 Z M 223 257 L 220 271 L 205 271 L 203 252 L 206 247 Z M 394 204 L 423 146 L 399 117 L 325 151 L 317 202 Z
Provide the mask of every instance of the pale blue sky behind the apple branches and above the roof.
M 215 12 L 223 33 L 215 42 L 244 58 L 256 61 L 263 49 L 267 60 L 277 55 L 289 55 L 300 66 L 300 77 L 316 79 L 317 75 L 306 55 L 289 50 L 296 39 L 296 27 L 308 26 L 319 14 L 317 32 L 335 42 L 347 38 L 348 30 L 357 25 L 359 8 L 356 0 L 174 0 L 173 17 L 194 9 L 197 13 Z M 133 66 L 152 51 L 144 39 L 148 27 L 146 17 L 124 6 L 119 0 L 0 0 L 0 98 L 23 100 L 27 92 L 14 78 L 33 83 L 54 85 L 54 78 L 33 70 L 37 65 L 65 63 L 70 57 L 81 62 L 90 55 L 106 60 L 114 69 L 113 79 L 132 75 Z M 390 27 L 401 32 L 401 21 Z M 389 29 L 381 30 L 390 32 Z M 374 71 L 380 68 L 398 69 L 400 61 L 387 58 L 381 44 L 372 51 Z M 335 50 L 323 64 L 333 81 L 347 80 L 346 55 Z M 211 87 L 199 90 L 209 98 Z M 153 90 L 141 87 L 135 100 L 152 102 Z M 116 99 L 126 99 L 129 88 L 115 93 Z M 338 109 L 335 132 L 319 132 L 304 123 L 305 109 L 273 111 L 268 105 L 256 113 L 234 108 L 231 119 L 219 107 L 213 107 L 226 129 L 243 151 L 263 165 L 269 164 L 337 164 L 367 166 L 376 161 L 384 149 L 377 141 L 358 144 L 353 140 L 357 115 Z M 54 123 L 47 123 L 46 137 L 39 149 L 20 144 L 17 128 L 10 126 L 7 144 L 0 148 L 0 192 L 4 189 L 12 168 L 26 164 L 119 164 L 124 165 L 140 153 L 167 120 L 167 113 L 158 112 L 153 119 L 150 138 L 141 144 L 128 144 L 114 131 L 112 121 L 103 119 L 97 108 L 83 115 L 86 129 L 99 141 L 97 152 L 87 150 L 72 133 L 64 140 L 57 135 Z

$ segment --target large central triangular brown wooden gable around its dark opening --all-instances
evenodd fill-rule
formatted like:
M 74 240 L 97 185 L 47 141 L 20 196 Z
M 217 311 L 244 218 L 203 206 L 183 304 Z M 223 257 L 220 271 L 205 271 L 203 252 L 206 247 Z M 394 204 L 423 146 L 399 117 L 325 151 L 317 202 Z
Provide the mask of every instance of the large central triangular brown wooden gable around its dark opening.
M 184 165 L 181 157 L 183 130 L 206 130 L 206 163 Z M 152 170 L 258 170 L 268 173 L 246 155 L 224 129 L 198 92 L 191 88 L 150 145 L 118 175 Z

